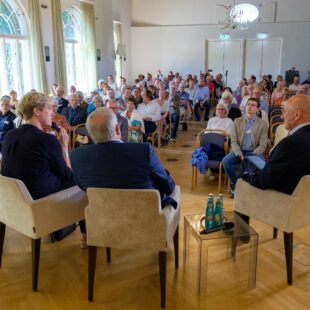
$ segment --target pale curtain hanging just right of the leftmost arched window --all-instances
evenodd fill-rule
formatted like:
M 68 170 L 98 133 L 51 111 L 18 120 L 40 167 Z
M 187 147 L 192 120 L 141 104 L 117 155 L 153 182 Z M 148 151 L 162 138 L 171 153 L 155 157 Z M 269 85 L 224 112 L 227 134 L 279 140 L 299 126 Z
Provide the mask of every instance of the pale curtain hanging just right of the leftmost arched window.
M 40 2 L 39 0 L 28 0 L 28 5 L 35 89 L 47 94 L 48 86 L 43 54 Z

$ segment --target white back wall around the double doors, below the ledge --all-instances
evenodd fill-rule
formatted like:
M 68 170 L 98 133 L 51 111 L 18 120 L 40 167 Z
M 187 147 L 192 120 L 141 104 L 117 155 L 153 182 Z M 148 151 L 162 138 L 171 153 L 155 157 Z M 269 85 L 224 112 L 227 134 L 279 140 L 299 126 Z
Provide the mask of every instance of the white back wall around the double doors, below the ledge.
M 164 74 L 179 71 L 183 76 L 204 71 L 205 40 L 218 39 L 221 32 L 217 26 L 132 27 L 132 80 L 139 73 L 155 73 L 157 69 Z M 310 22 L 257 24 L 230 34 L 232 39 L 256 38 L 259 32 L 283 38 L 280 73 L 295 64 L 302 78 L 306 76 L 310 70 Z

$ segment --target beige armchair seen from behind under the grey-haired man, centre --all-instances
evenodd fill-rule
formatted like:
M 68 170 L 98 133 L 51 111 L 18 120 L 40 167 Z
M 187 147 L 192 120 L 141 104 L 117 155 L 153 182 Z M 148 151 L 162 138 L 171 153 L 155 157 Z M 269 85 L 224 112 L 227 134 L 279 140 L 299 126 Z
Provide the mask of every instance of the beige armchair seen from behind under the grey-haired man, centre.
M 178 208 L 162 209 L 157 190 L 88 188 L 85 209 L 89 250 L 88 299 L 93 301 L 97 247 L 147 249 L 159 254 L 161 307 L 166 300 L 166 253 L 174 241 L 175 268 L 178 268 L 180 187 L 172 197 Z M 108 262 L 110 252 L 107 251 Z

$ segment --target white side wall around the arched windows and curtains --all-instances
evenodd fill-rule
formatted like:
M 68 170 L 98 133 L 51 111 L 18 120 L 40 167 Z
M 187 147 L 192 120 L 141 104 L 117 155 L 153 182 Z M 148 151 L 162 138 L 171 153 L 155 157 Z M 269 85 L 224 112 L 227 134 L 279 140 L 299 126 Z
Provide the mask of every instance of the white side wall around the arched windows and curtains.
M 50 48 L 50 62 L 46 62 L 48 85 L 54 83 L 54 51 L 52 33 L 52 0 L 41 0 L 41 4 L 47 5 L 41 8 L 43 45 Z M 28 0 L 18 0 L 28 15 Z M 113 20 L 122 23 L 123 42 L 127 46 L 128 59 L 130 59 L 130 26 L 131 26 L 131 0 L 94 0 L 96 47 L 101 50 L 101 61 L 97 61 L 97 78 L 106 78 L 108 74 L 114 74 L 114 44 L 113 44 Z M 80 7 L 78 0 L 63 0 L 62 9 L 70 6 Z M 29 16 L 29 15 L 28 15 Z M 27 16 L 27 18 L 28 18 Z M 130 62 L 123 65 L 124 73 L 130 74 Z M 96 85 L 94 85 L 96 88 Z

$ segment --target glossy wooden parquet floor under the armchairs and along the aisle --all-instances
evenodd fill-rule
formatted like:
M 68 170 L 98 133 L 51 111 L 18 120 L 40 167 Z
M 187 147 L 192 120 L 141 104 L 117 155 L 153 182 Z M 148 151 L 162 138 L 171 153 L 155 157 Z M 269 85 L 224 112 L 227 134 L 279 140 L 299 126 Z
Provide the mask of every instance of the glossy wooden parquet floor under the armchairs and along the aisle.
M 272 228 L 251 221 L 259 234 L 256 288 L 247 288 L 247 262 L 231 268 L 231 259 L 216 248 L 209 254 L 210 278 L 205 295 L 197 295 L 196 269 L 193 264 L 183 269 L 183 217 L 204 212 L 209 192 L 216 193 L 217 181 L 198 176 L 191 192 L 191 152 L 203 123 L 192 123 L 180 131 L 177 142 L 157 150 L 164 166 L 181 186 L 180 267 L 174 269 L 173 249 L 168 253 L 167 309 L 309 309 L 310 305 L 310 226 L 295 233 L 296 257 L 294 283 L 286 284 L 282 234 L 272 239 Z M 181 129 L 181 128 L 180 128 Z M 170 161 L 170 160 L 176 161 Z M 224 191 L 224 205 L 232 209 L 232 199 Z M 30 240 L 7 228 L 2 267 L 0 269 L 0 310 L 36 309 L 160 309 L 158 256 L 133 250 L 113 250 L 112 263 L 107 265 L 105 251 L 99 251 L 94 302 L 87 300 L 87 251 L 79 248 L 76 231 L 66 240 L 42 244 L 39 290 L 31 290 Z M 190 255 L 195 257 L 195 248 Z M 240 253 L 242 254 L 242 246 Z M 241 255 L 240 254 L 240 255 Z M 211 256 L 210 256 L 211 255 Z M 295 255 L 295 253 L 294 253 Z M 295 258 L 296 258 L 295 257 Z M 298 258 L 297 257 L 297 258 Z M 195 260 L 192 259 L 192 262 Z M 241 262 L 241 263 L 240 263 Z M 241 268 L 241 269 L 240 269 Z M 240 270 L 241 271 L 240 271 Z

